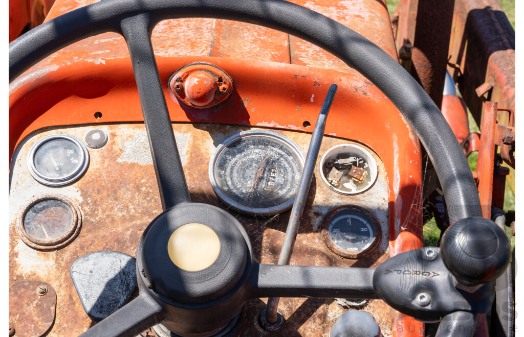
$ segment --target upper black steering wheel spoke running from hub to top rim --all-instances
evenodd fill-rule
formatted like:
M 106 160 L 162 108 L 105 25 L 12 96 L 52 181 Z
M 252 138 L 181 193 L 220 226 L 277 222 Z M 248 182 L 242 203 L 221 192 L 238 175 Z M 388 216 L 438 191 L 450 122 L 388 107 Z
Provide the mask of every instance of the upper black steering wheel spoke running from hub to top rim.
M 190 202 L 190 197 L 151 45 L 152 23 L 149 15 L 139 14 L 123 19 L 121 29 L 133 64 L 158 190 L 165 211 Z

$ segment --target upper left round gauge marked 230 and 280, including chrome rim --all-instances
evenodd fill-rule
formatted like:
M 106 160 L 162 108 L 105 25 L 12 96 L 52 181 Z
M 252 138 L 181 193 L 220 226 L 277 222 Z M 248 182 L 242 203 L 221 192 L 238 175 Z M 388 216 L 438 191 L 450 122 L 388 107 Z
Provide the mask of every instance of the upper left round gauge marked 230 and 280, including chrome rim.
M 83 175 L 89 153 L 77 138 L 66 134 L 43 137 L 29 150 L 27 168 L 38 182 L 51 186 L 65 185 Z

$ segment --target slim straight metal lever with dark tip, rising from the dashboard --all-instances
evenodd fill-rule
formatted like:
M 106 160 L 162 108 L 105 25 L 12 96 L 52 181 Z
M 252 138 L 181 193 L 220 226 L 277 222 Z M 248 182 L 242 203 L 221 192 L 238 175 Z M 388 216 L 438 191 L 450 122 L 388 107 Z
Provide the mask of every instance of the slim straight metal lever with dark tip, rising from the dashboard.
M 337 88 L 336 84 L 332 84 L 329 87 L 328 94 L 324 99 L 322 109 L 319 113 L 319 118 L 316 120 L 315 129 L 311 135 L 311 142 L 309 143 L 308 155 L 305 158 L 304 170 L 302 171 L 297 195 L 295 196 L 293 208 L 291 209 L 291 216 L 289 217 L 289 223 L 286 229 L 286 237 L 282 243 L 280 257 L 278 258 L 278 264 L 281 265 L 289 264 L 289 260 L 291 259 L 291 252 L 293 251 L 294 242 L 297 239 L 299 221 L 304 212 L 305 200 L 308 197 L 311 179 L 313 178 L 316 157 L 319 155 L 320 144 L 322 143 L 322 137 L 324 136 L 326 118 L 328 117 L 331 103 L 333 103 L 333 98 L 335 97 Z M 269 323 L 275 323 L 278 320 L 277 307 L 279 300 L 280 298 L 278 297 L 271 297 L 267 301 L 266 321 Z M 279 327 L 276 327 L 276 329 L 278 328 Z

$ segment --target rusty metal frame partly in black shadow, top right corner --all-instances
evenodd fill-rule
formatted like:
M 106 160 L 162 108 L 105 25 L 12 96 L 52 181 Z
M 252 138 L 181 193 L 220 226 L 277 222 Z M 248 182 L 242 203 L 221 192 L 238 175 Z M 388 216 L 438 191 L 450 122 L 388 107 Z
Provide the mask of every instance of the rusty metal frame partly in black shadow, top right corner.
M 483 99 L 475 89 L 486 82 L 494 83 L 488 100 L 515 110 L 515 30 L 497 0 L 455 2 L 448 69 L 478 125 Z

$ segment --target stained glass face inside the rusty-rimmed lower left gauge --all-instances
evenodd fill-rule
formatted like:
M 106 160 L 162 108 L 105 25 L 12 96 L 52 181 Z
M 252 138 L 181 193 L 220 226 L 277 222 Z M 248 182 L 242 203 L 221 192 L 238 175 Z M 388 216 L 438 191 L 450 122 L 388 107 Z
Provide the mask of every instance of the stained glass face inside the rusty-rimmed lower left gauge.
M 24 217 L 26 233 L 41 241 L 53 241 L 66 235 L 73 226 L 71 208 L 59 200 L 44 200 L 27 211 Z

